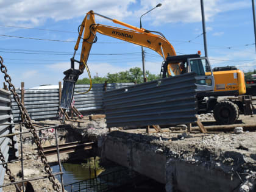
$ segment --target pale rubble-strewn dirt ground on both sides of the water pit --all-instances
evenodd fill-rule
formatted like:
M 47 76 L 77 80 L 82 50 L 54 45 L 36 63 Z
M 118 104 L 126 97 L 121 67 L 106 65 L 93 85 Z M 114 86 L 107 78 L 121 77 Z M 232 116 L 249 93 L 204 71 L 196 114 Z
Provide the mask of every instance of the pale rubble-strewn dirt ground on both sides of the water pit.
M 199 115 L 198 118 L 202 121 L 202 123 L 207 126 L 216 126 L 215 120 L 212 114 L 207 113 L 204 115 Z M 256 124 L 256 115 L 254 116 L 244 116 L 240 115 L 237 126 L 243 126 L 246 124 Z M 66 126 L 72 127 L 75 132 L 78 132 L 82 137 L 91 137 L 94 138 L 102 137 L 102 135 L 106 135 L 108 132 L 107 124 L 105 123 L 105 119 L 95 119 L 90 121 L 90 119 L 85 117 L 84 119 L 77 119 L 79 122 L 75 121 L 66 121 Z M 47 123 L 57 123 L 60 124 L 60 121 L 44 121 Z M 168 148 L 171 148 L 172 151 L 175 151 L 176 157 L 185 158 L 188 161 L 197 163 L 197 159 L 194 157 L 194 148 L 191 146 L 199 146 L 199 148 L 207 148 L 210 151 L 236 151 L 239 152 L 243 156 L 244 162 L 246 162 L 245 169 L 247 170 L 247 174 L 250 176 L 255 176 L 255 162 L 256 162 L 256 132 L 248 132 L 244 130 L 240 134 L 235 134 L 233 130 L 229 130 L 228 132 L 219 132 L 219 133 L 207 133 L 202 134 L 197 130 L 196 124 L 193 124 L 193 130 L 196 130 L 195 133 L 186 133 L 187 126 L 168 126 L 162 127 L 163 132 L 157 133 L 154 129 L 151 129 L 151 133 L 149 135 L 146 133 L 146 129 L 132 129 L 132 127 L 116 127 L 112 130 L 121 130 L 121 132 L 127 133 L 135 133 L 133 135 L 133 139 L 136 139 L 136 135 L 148 135 L 152 136 L 155 139 L 151 141 L 152 144 L 157 144 L 160 147 L 157 148 L 156 152 L 163 152 Z M 25 128 L 24 128 L 25 129 Z M 256 129 L 255 129 L 256 130 Z M 30 133 L 28 133 L 30 134 Z M 29 179 L 31 177 L 40 177 L 46 176 L 46 172 L 44 171 L 43 164 L 41 163 L 40 157 L 38 157 L 37 150 L 35 149 L 35 144 L 31 144 L 30 139 L 25 139 L 24 135 L 24 179 Z M 31 136 L 30 136 L 31 137 Z M 47 130 L 41 136 L 45 139 L 46 145 L 55 144 L 55 140 L 52 139 L 53 134 L 51 130 Z M 139 137 L 139 136 L 138 136 Z M 181 142 L 182 141 L 182 142 Z M 20 140 L 18 141 L 20 146 Z M 171 147 L 170 147 L 171 146 Z M 186 148 L 186 149 L 184 149 Z M 176 150 L 173 150 L 176 149 Z M 193 149 L 193 150 L 192 150 Z M 187 151 L 187 155 L 182 155 L 182 152 Z M 225 157 L 222 161 L 226 163 L 234 163 L 236 162 L 235 157 Z M 224 163 L 225 164 L 225 163 Z M 249 165 L 249 166 L 248 166 Z M 241 165 L 240 165 L 241 166 Z M 221 166 L 221 168 L 224 166 Z M 16 180 L 21 180 L 20 170 L 21 163 L 15 162 L 10 163 L 9 168 L 12 171 L 13 176 L 15 176 Z M 250 172 L 251 171 L 251 172 Z M 57 183 L 59 181 L 55 179 Z M 4 184 L 9 183 L 9 179 L 5 174 Z M 52 190 L 52 183 L 49 182 L 48 179 L 41 179 L 32 181 L 32 186 L 35 191 L 54 191 Z M 60 183 L 59 183 L 60 185 Z M 15 191 L 14 186 L 4 187 L 3 191 Z

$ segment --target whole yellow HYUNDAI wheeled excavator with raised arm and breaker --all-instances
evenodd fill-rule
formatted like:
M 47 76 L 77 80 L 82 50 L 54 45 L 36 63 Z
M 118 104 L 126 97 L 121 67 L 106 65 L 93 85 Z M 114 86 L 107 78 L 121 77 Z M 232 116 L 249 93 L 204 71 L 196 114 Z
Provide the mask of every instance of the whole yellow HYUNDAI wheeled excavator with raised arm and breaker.
M 94 16 L 98 15 L 113 23 L 127 27 L 106 26 L 96 24 Z M 84 32 L 84 35 L 83 35 Z M 74 85 L 80 74 L 87 68 L 87 60 L 91 46 L 96 43 L 96 33 L 118 38 L 129 43 L 138 44 L 152 49 L 163 57 L 161 77 L 177 76 L 183 73 L 196 73 L 197 101 L 199 113 L 213 111 L 213 115 L 221 124 L 231 124 L 238 119 L 240 113 L 252 115 L 251 96 L 244 96 L 246 85 L 243 71 L 233 66 L 212 69 L 207 57 L 201 57 L 201 53 L 189 55 L 176 55 L 176 52 L 160 32 L 146 30 L 131 26 L 107 16 L 95 13 L 92 10 L 87 13 L 79 26 L 79 35 L 74 47 L 74 55 L 71 58 L 71 68 L 64 72 L 61 107 L 68 109 L 74 94 Z M 82 39 L 82 51 L 80 60 L 75 60 L 76 51 Z M 79 69 L 74 68 L 74 63 L 79 63 Z M 219 100 L 219 96 L 239 96 L 238 98 L 226 98 Z

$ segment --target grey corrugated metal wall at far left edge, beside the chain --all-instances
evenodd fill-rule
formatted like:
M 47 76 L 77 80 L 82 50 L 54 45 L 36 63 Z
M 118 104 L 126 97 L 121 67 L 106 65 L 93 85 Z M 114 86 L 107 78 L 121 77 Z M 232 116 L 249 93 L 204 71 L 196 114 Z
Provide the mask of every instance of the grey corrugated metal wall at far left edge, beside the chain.
M 10 123 L 13 123 L 13 117 L 11 115 L 10 108 L 10 92 L 0 88 L 0 124 Z M 14 133 L 14 126 L 0 125 L 0 135 L 7 135 L 9 133 Z M 0 138 L 0 148 L 6 162 L 9 158 L 9 143 L 13 144 L 13 147 L 16 148 L 15 156 L 18 157 L 18 146 L 16 143 L 16 136 L 12 137 L 11 139 L 8 137 L 2 137 Z M 4 174 L 5 169 L 2 165 L 0 165 L 0 185 L 2 185 L 2 183 L 4 182 Z M 0 192 L 1 191 L 2 188 L 0 188 Z

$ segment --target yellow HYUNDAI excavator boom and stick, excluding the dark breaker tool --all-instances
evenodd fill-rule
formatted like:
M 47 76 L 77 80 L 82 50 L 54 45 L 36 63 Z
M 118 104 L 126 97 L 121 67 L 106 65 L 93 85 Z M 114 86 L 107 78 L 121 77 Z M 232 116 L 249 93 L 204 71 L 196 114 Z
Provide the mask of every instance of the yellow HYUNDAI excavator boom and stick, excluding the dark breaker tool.
M 79 65 L 79 69 L 81 69 L 82 71 L 84 71 L 84 68 L 85 68 L 84 62 L 87 63 L 88 56 L 90 54 L 90 49 L 92 44 L 95 41 L 97 32 L 102 35 L 118 38 L 119 40 L 127 41 L 133 44 L 138 44 L 140 46 L 144 46 L 146 48 L 152 49 L 158 54 L 160 54 L 164 60 L 166 59 L 167 56 L 176 55 L 176 52 L 173 46 L 171 45 L 171 43 L 169 43 L 169 41 L 166 40 L 166 38 L 160 35 L 152 34 L 146 29 L 143 29 L 143 28 L 140 29 L 138 27 L 131 26 L 129 24 L 123 23 L 118 20 L 113 20 L 105 16 L 103 17 L 107 18 L 108 20 L 112 20 L 113 23 L 117 23 L 122 26 L 129 27 L 130 29 L 122 29 L 119 27 L 96 24 L 94 20 L 94 15 L 99 15 L 99 14 L 94 13 L 93 11 L 90 11 L 85 16 L 84 21 L 82 22 L 79 30 L 79 37 L 77 38 L 76 46 L 74 48 L 75 51 L 79 48 L 80 39 L 84 31 L 82 51 L 80 55 L 80 65 Z M 99 16 L 102 16 L 102 15 L 99 15 Z M 169 67 L 171 71 L 174 73 L 174 75 L 180 74 L 180 68 L 177 63 L 172 63 L 172 65 L 169 65 Z

